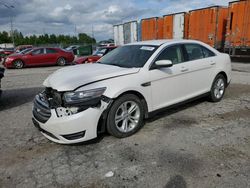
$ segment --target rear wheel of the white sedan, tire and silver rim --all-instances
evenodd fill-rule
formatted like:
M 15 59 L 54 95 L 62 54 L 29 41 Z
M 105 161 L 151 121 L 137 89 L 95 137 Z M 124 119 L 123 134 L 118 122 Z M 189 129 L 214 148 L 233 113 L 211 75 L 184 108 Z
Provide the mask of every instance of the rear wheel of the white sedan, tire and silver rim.
M 226 90 L 226 79 L 223 75 L 219 74 L 215 77 L 211 91 L 210 91 L 210 100 L 212 102 L 219 102 Z

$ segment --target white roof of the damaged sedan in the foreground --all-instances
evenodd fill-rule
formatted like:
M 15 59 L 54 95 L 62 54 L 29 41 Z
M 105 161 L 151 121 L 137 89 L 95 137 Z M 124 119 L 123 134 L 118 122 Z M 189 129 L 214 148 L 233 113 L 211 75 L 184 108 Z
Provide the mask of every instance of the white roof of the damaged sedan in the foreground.
M 193 42 L 193 43 L 200 43 L 197 40 L 185 40 L 185 39 L 166 39 L 166 40 L 148 40 L 148 41 L 141 41 L 141 42 L 134 42 L 127 45 L 152 45 L 152 46 L 161 46 L 163 44 L 176 44 L 176 43 L 183 43 L 183 42 Z

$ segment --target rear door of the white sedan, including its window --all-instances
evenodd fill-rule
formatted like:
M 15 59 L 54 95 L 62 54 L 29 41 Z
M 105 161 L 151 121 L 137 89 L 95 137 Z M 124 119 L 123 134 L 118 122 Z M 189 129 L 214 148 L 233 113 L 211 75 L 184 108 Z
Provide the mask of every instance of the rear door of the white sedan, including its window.
M 189 98 L 210 91 L 215 71 L 215 54 L 199 44 L 184 44 Z

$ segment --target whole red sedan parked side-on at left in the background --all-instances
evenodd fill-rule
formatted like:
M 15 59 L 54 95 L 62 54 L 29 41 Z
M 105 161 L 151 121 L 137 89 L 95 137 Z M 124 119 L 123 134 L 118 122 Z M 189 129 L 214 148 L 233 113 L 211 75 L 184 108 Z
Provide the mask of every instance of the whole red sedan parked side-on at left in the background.
M 3 64 L 6 68 L 17 68 L 43 65 L 65 65 L 74 60 L 72 52 L 60 48 L 35 48 L 24 54 L 7 56 Z

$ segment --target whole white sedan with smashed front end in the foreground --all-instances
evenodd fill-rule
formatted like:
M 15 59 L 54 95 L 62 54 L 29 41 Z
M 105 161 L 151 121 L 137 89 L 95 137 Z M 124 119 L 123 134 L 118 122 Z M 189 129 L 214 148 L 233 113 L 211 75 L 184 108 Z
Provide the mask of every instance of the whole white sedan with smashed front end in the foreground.
M 45 137 L 62 144 L 105 131 L 128 137 L 166 107 L 204 95 L 220 101 L 230 80 L 230 57 L 202 42 L 137 42 L 95 64 L 54 72 L 34 100 L 32 119 Z

